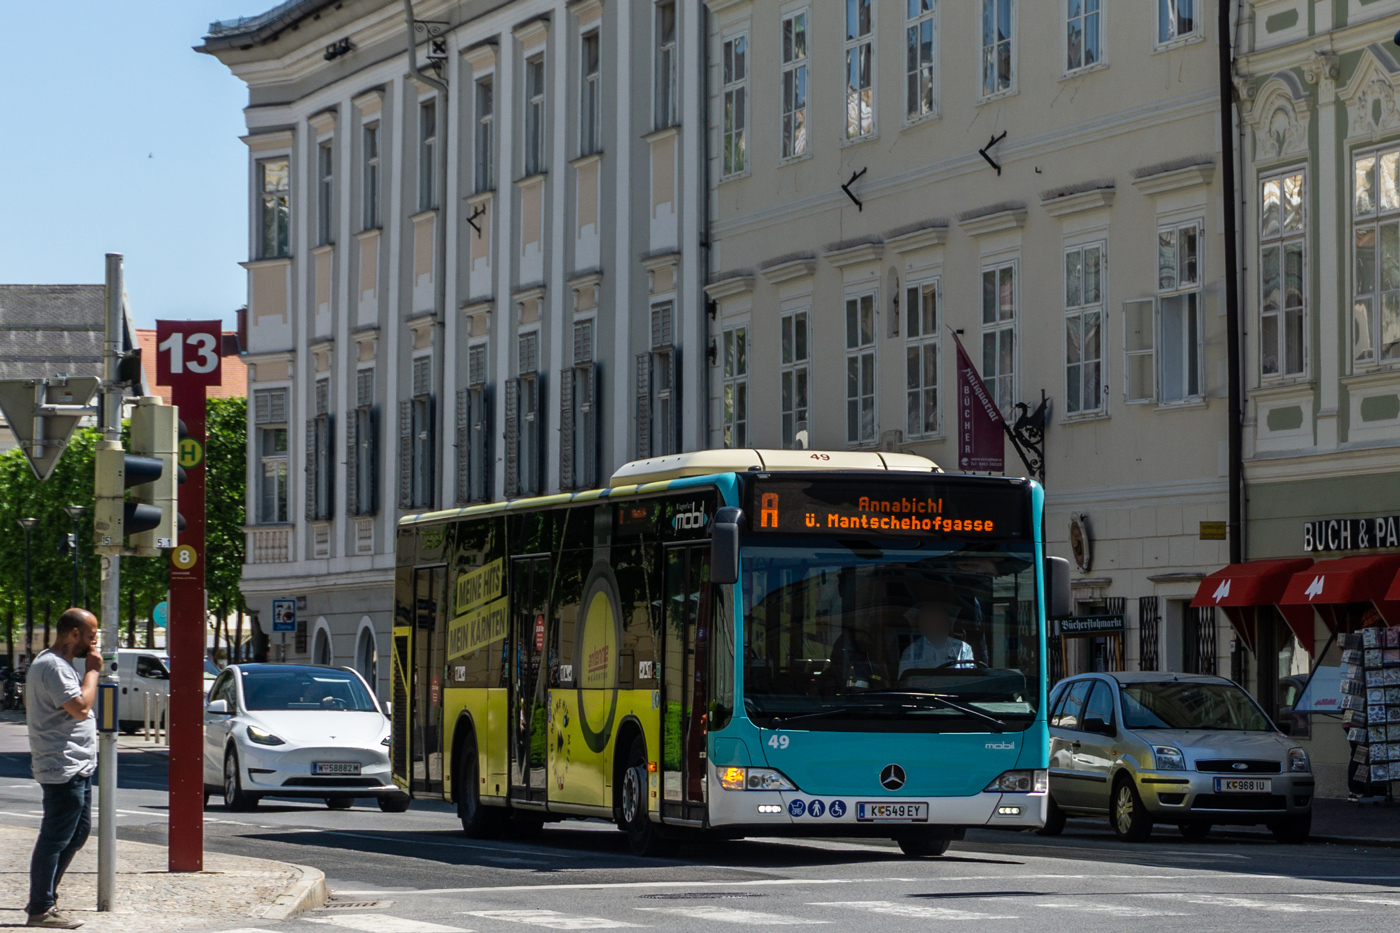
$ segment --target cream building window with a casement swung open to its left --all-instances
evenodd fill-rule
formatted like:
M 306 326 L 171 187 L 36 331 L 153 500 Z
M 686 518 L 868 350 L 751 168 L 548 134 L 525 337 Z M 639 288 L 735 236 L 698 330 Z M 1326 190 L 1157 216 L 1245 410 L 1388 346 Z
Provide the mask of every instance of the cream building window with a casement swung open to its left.
M 1186 280 L 1186 273 L 1189 266 L 1189 259 L 1182 252 L 1183 233 L 1194 231 L 1196 237 L 1196 266 L 1194 266 L 1194 280 Z M 1166 277 L 1166 266 L 1162 263 L 1165 256 L 1163 249 L 1163 235 L 1172 235 L 1172 268 L 1173 273 L 1170 279 Z M 1201 283 L 1205 282 L 1205 249 L 1203 248 L 1205 242 L 1205 221 L 1201 217 L 1173 220 L 1170 223 L 1159 221 L 1156 228 L 1156 335 L 1154 346 L 1156 347 L 1156 401 L 1161 406 L 1175 406 L 1175 405 L 1198 405 L 1205 399 L 1205 311 L 1204 311 L 1204 291 Z M 1187 308 L 1191 307 L 1194 300 L 1194 325 L 1196 325 L 1196 339 L 1191 339 L 1191 318 L 1183 317 L 1180 322 L 1180 331 L 1172 326 L 1169 315 L 1166 311 L 1166 304 L 1176 298 L 1183 298 Z M 1179 343 L 1182 347 L 1182 357 L 1179 360 L 1172 360 L 1168 357 L 1172 345 L 1168 343 L 1168 336 L 1173 343 Z M 1191 391 L 1191 352 L 1196 353 L 1196 391 Z M 1179 370 L 1170 373 L 1170 370 Z M 1182 392 L 1179 395 L 1168 394 L 1168 378 L 1179 378 L 1182 385 Z

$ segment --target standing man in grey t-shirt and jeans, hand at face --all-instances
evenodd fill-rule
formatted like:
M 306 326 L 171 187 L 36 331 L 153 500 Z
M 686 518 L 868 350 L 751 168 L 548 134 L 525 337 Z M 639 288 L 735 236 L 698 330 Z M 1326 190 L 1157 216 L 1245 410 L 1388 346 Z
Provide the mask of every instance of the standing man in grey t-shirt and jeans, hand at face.
M 73 856 L 87 842 L 97 769 L 98 672 L 97 616 L 69 609 L 59 616 L 57 640 L 29 665 L 25 709 L 34 779 L 43 787 L 43 822 L 29 859 L 29 926 L 74 930 L 83 920 L 62 913 L 57 887 Z M 74 660 L 85 672 L 78 679 Z

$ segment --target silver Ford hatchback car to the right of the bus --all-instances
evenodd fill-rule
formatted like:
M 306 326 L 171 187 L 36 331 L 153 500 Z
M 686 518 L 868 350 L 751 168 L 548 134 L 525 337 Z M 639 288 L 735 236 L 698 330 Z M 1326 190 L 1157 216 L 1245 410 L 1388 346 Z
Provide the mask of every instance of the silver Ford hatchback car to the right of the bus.
M 1050 693 L 1050 801 L 1065 817 L 1107 815 L 1120 839 L 1154 822 L 1200 839 L 1215 824 L 1264 824 L 1280 842 L 1312 829 L 1308 754 L 1233 681 L 1208 674 L 1081 674 Z

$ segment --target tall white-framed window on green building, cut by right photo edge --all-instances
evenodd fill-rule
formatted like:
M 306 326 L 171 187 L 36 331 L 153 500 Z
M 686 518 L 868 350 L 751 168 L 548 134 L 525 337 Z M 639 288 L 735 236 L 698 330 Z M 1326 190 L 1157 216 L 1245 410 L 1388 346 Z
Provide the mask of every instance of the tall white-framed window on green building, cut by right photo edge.
M 1368 172 L 1371 175 L 1371 181 L 1369 181 L 1369 191 L 1366 192 L 1366 195 L 1369 196 L 1369 206 L 1366 206 L 1365 202 L 1362 200 L 1364 195 L 1362 195 L 1361 186 L 1358 184 L 1358 182 L 1361 182 L 1361 165 L 1364 163 L 1368 163 L 1368 161 L 1371 163 L 1371 170 Z M 1397 289 L 1394 289 L 1394 287 L 1390 287 L 1390 289 L 1385 287 L 1386 283 L 1382 282 L 1382 279 L 1380 279 L 1380 276 L 1385 273 L 1385 263 L 1380 259 L 1380 251 L 1383 249 L 1383 245 L 1385 245 L 1385 228 L 1386 227 L 1393 227 L 1397 221 L 1400 221 L 1400 210 L 1397 210 L 1394 206 L 1386 206 L 1386 203 L 1385 203 L 1385 199 L 1387 196 L 1390 199 L 1400 200 L 1400 189 L 1397 189 L 1394 192 L 1386 192 L 1383 186 L 1378 186 L 1376 185 L 1376 175 L 1380 171 L 1385 171 L 1380 167 L 1385 165 L 1386 163 L 1392 163 L 1393 165 L 1396 165 L 1396 170 L 1392 170 L 1392 171 L 1400 171 L 1400 148 L 1396 148 L 1396 146 L 1393 143 L 1390 146 L 1387 146 L 1387 147 L 1383 147 L 1383 148 L 1369 148 L 1369 150 L 1352 153 L 1352 156 L 1351 156 L 1351 207 L 1350 207 L 1350 210 L 1351 210 L 1351 301 L 1352 301 L 1352 310 L 1351 310 L 1351 315 L 1350 315 L 1350 318 L 1351 318 L 1351 326 L 1350 326 L 1351 336 L 1350 336 L 1348 350 L 1351 352 L 1351 367 L 1352 367 L 1352 371 L 1365 371 L 1365 370 L 1390 367 L 1390 366 L 1394 366 L 1397 361 L 1400 361 L 1400 343 L 1393 343 L 1392 345 L 1392 346 L 1396 347 L 1393 356 L 1385 357 L 1382 354 L 1383 353 L 1382 340 L 1385 338 L 1385 325 L 1383 325 L 1383 321 L 1382 321 L 1382 318 L 1383 318 L 1382 308 L 1385 307 L 1386 296 L 1396 296 Z M 1372 248 L 1375 251 L 1373 252 L 1373 259 L 1372 259 L 1372 263 L 1371 263 L 1372 265 L 1372 273 L 1371 273 L 1371 291 L 1369 291 L 1369 294 L 1365 293 L 1365 291 L 1361 291 L 1361 287 L 1362 287 L 1362 282 L 1361 282 L 1361 279 L 1362 279 L 1362 276 L 1361 276 L 1361 251 L 1358 249 L 1357 242 L 1358 242 L 1359 234 L 1362 231 L 1369 231 L 1371 233 L 1372 244 L 1373 244 Z M 1397 234 L 1397 237 L 1400 237 L 1400 234 Z M 1371 310 L 1369 310 L 1369 314 L 1368 314 L 1369 321 L 1368 321 L 1368 328 L 1366 328 L 1368 329 L 1366 339 L 1369 342 L 1371 350 L 1369 350 L 1369 353 L 1368 353 L 1366 357 L 1361 357 L 1358 354 L 1358 350 L 1357 350 L 1357 347 L 1359 346 L 1359 342 L 1357 340 L 1357 336 L 1359 333 L 1359 328 L 1357 326 L 1357 310 L 1361 307 L 1362 300 L 1369 300 L 1371 301 Z M 1393 301 L 1394 301 L 1394 304 L 1400 304 L 1400 296 L 1397 296 L 1396 298 L 1393 298 Z M 1397 314 L 1400 314 L 1400 311 L 1397 311 Z

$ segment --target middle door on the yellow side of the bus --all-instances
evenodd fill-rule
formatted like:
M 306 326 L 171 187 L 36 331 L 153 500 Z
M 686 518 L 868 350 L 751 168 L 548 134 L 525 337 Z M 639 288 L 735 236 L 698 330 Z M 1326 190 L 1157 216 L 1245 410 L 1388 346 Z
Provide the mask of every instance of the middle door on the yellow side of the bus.
M 545 803 L 549 555 L 511 562 L 511 799 Z

